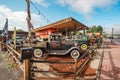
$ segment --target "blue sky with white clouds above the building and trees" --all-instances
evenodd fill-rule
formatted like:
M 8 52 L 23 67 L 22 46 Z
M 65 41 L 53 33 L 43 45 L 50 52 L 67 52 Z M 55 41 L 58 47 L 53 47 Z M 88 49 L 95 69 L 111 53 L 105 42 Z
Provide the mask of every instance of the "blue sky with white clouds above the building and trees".
M 102 25 L 107 33 L 120 33 L 120 0 L 31 0 L 31 23 L 38 28 L 67 17 L 88 27 Z M 36 8 L 34 7 L 36 6 Z M 0 30 L 8 18 L 9 30 L 27 31 L 26 0 L 0 0 Z

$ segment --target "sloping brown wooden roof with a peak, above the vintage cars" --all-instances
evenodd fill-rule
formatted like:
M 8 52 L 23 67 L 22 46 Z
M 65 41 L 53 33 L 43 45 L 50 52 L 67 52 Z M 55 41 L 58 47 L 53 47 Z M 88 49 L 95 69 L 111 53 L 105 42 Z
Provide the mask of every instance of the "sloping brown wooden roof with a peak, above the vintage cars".
M 41 31 L 41 30 L 47 30 L 47 29 L 59 29 L 59 30 L 65 30 L 67 31 L 73 31 L 73 30 L 83 30 L 88 29 L 88 27 L 79 21 L 75 20 L 72 17 L 39 27 L 35 29 L 35 32 Z

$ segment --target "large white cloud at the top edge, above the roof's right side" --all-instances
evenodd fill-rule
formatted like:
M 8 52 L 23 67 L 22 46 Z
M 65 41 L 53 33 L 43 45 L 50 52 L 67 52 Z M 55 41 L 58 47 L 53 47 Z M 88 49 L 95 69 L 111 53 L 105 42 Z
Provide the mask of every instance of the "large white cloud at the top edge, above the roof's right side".
M 118 2 L 118 0 L 59 0 L 59 3 L 66 4 L 73 10 L 85 16 L 91 15 L 96 8 L 104 9 L 112 6 Z

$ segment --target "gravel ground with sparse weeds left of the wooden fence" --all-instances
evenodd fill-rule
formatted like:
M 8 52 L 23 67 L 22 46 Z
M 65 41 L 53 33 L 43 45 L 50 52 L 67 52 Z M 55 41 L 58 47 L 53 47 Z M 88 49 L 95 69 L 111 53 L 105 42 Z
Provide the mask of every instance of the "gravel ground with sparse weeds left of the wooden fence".
M 0 80 L 21 80 L 22 74 L 7 52 L 0 52 Z

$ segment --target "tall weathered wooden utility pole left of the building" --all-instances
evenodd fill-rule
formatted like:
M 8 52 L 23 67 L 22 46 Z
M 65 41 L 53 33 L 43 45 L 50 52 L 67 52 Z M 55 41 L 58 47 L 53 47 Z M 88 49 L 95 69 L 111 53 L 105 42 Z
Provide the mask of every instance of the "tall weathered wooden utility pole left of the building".
M 32 43 L 32 34 L 31 34 L 31 14 L 30 14 L 30 0 L 26 0 L 27 2 L 27 26 L 28 26 L 28 44 L 31 46 Z

